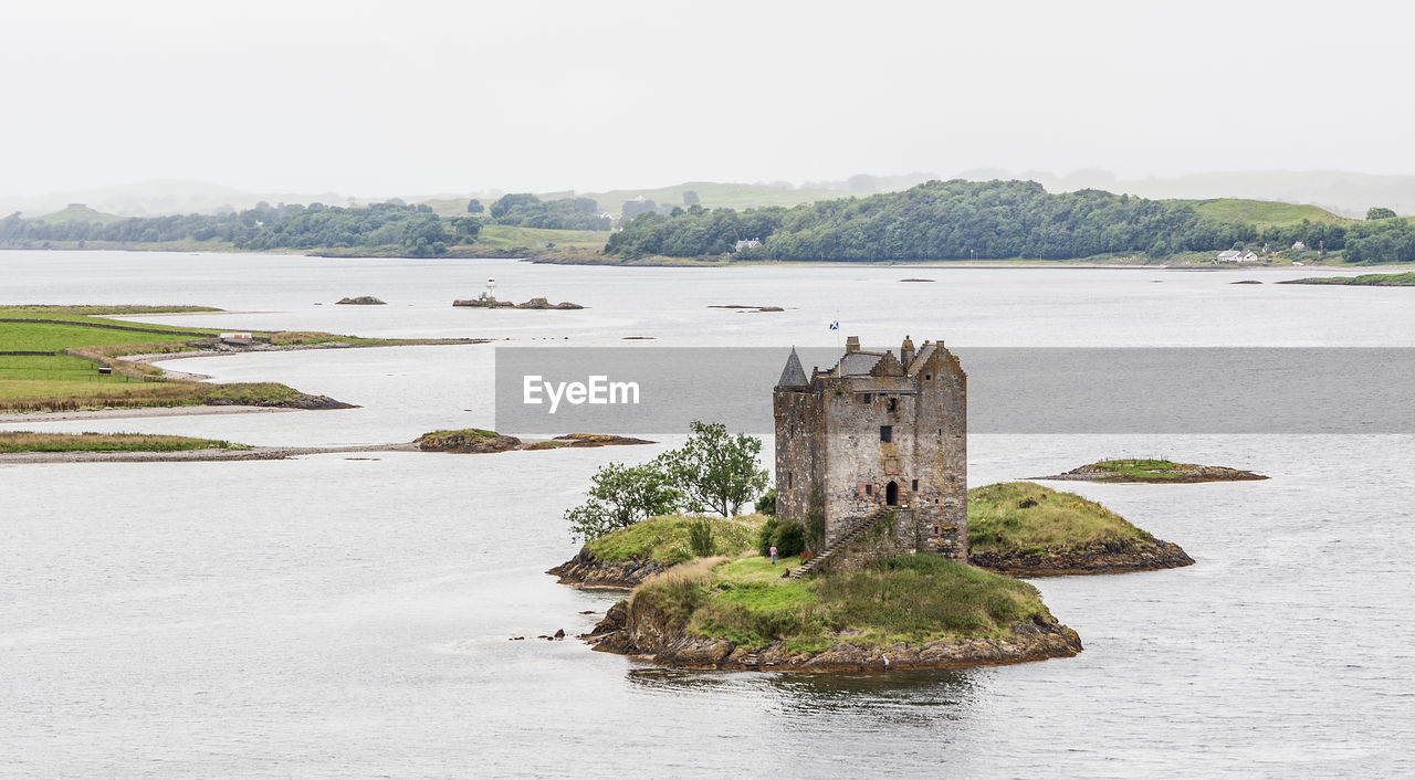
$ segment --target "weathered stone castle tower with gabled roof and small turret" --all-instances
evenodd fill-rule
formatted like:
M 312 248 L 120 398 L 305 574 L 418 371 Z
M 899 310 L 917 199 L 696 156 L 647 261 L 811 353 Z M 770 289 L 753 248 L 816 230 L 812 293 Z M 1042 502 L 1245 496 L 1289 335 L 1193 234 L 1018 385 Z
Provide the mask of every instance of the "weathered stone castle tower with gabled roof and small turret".
M 792 349 L 773 407 L 778 517 L 824 519 L 829 550 L 891 514 L 891 552 L 966 562 L 968 376 L 944 342 L 906 336 L 896 358 L 850 336 L 809 379 Z

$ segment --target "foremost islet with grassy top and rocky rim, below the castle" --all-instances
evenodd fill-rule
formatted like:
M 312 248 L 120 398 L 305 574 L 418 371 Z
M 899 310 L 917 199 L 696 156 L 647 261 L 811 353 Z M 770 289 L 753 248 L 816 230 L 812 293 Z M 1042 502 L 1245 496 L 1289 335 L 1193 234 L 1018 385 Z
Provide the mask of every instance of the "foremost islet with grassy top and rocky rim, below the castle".
M 1077 633 L 1032 585 L 941 555 L 782 578 L 756 552 L 651 577 L 586 640 L 685 668 L 889 671 L 1070 657 Z

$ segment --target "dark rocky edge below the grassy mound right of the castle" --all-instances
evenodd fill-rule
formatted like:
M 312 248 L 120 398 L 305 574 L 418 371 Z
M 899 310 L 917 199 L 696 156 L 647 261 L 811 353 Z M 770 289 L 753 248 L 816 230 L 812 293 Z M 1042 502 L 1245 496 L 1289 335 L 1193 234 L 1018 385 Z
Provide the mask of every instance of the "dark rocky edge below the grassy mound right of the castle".
M 968 562 L 998 574 L 1027 578 L 1157 571 L 1193 565 L 1194 560 L 1173 541 L 1149 538 L 1107 541 L 1084 550 L 1039 555 L 972 552 Z

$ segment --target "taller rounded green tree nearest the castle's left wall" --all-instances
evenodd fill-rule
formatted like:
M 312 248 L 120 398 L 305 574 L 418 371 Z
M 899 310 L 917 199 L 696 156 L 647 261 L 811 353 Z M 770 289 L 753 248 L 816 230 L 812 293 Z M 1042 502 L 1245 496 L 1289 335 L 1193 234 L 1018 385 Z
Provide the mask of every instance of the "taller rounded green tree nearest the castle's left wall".
M 733 437 L 722 422 L 695 420 L 688 441 L 659 456 L 659 463 L 682 489 L 691 512 L 732 517 L 767 488 L 760 455 L 761 439 Z

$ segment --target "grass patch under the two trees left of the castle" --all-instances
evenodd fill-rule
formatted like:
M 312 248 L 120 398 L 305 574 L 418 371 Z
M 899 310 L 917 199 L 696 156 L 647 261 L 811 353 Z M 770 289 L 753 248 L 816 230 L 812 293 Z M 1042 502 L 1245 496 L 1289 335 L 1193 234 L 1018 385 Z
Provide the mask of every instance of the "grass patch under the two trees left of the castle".
M 649 517 L 618 528 L 586 547 L 604 561 L 651 561 L 665 567 L 693 558 L 689 544 L 689 526 L 703 517 L 685 514 L 664 514 Z M 767 521 L 764 514 L 741 514 L 737 517 L 708 517 L 713 527 L 713 551 L 722 555 L 737 555 L 757 545 L 757 533 Z

